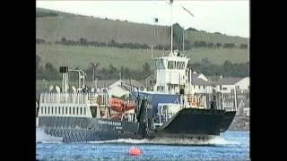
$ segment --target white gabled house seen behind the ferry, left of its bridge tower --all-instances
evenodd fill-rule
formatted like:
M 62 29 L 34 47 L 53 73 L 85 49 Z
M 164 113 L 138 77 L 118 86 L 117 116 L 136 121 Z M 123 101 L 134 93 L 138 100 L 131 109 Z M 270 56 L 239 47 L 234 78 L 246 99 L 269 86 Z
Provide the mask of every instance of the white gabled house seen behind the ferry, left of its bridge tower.
M 137 80 L 97 80 L 98 91 L 108 90 L 109 96 L 122 97 L 132 89 L 142 89 L 143 84 Z

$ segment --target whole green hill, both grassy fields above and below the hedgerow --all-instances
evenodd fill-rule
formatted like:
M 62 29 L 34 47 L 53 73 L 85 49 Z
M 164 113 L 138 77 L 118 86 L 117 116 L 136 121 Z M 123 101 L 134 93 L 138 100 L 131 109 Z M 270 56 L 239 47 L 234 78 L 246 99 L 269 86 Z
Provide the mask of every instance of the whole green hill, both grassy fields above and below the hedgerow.
M 142 70 L 145 62 L 150 62 L 150 51 L 147 49 L 128 49 L 117 47 L 88 47 L 64 46 L 55 44 L 61 38 L 87 41 L 139 44 L 170 44 L 170 28 L 128 21 L 112 21 L 72 13 L 62 13 L 46 9 L 36 10 L 36 38 L 44 39 L 45 44 L 37 44 L 36 52 L 41 57 L 40 65 L 47 63 L 55 67 L 69 65 L 71 67 L 86 68 L 88 64 L 100 63 L 100 67 L 113 64 L 134 70 Z M 187 30 L 186 38 L 189 42 L 205 41 L 206 43 L 234 43 L 248 44 L 248 38 L 230 37 L 205 31 Z M 168 51 L 156 50 L 155 56 Z M 239 48 L 208 48 L 199 47 L 187 50 L 191 63 L 200 62 L 207 57 L 213 64 L 223 64 L 230 60 L 232 63 L 246 63 L 249 61 L 248 49 Z

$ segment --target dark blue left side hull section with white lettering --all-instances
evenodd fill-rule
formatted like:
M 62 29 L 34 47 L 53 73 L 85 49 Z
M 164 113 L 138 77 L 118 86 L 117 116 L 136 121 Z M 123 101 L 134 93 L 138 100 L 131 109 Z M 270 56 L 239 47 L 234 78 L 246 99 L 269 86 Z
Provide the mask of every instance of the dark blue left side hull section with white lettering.
M 39 117 L 39 128 L 63 142 L 143 139 L 139 123 L 81 117 Z

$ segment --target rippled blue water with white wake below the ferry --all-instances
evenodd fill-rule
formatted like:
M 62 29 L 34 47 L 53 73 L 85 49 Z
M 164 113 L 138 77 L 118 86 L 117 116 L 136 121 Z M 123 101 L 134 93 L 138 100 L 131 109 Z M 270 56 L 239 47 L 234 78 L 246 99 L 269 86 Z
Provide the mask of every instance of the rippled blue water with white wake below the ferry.
M 164 144 L 164 143 L 170 144 Z M 184 145 L 182 145 L 184 144 Z M 128 155 L 129 148 L 143 151 Z M 208 142 L 191 140 L 109 140 L 85 143 L 40 142 L 39 160 L 249 160 L 249 132 L 226 131 Z

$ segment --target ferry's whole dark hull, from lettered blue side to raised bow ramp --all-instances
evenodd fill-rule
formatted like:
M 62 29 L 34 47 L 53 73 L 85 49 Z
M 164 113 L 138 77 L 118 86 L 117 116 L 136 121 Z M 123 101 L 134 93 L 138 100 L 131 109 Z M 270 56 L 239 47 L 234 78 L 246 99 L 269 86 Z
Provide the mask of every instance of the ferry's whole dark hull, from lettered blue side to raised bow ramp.
M 143 132 L 140 123 L 66 116 L 39 117 L 39 127 L 50 136 L 63 138 L 63 142 L 155 137 L 206 139 L 226 131 L 235 113 L 185 108 L 161 127 L 147 133 Z

